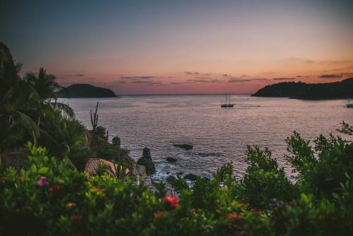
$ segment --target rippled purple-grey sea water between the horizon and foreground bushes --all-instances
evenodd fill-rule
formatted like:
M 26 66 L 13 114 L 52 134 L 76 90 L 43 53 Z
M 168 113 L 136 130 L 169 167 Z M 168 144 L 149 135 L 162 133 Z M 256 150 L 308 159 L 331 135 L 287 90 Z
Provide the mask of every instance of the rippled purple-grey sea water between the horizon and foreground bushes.
M 246 146 L 268 147 L 290 175 L 284 155 L 285 138 L 294 130 L 313 141 L 319 134 L 339 134 L 340 122 L 353 124 L 353 109 L 345 100 L 306 101 L 287 98 L 253 98 L 233 95 L 233 108 L 221 108 L 223 95 L 148 95 L 119 98 L 61 99 L 75 110 L 89 129 L 90 110 L 98 108 L 99 125 L 109 138 L 119 136 L 121 146 L 138 160 L 143 148 L 151 149 L 157 173 L 165 179 L 177 172 L 211 177 L 218 167 L 232 161 L 234 175 L 246 169 Z M 352 140 L 352 136 L 344 136 Z M 188 143 L 193 150 L 174 147 Z M 166 158 L 177 158 L 168 163 Z

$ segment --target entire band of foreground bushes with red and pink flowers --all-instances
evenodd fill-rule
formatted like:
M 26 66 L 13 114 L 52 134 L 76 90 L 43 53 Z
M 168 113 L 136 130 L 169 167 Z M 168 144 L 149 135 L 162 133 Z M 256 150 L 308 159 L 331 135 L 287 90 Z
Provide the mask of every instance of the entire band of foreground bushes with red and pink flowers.
M 353 143 L 320 136 L 311 147 L 297 133 L 287 143 L 296 181 L 268 149 L 249 147 L 244 177 L 229 163 L 191 187 L 178 178 L 177 196 L 124 173 L 88 177 L 28 143 L 25 170 L 0 164 L 0 234 L 352 235 Z

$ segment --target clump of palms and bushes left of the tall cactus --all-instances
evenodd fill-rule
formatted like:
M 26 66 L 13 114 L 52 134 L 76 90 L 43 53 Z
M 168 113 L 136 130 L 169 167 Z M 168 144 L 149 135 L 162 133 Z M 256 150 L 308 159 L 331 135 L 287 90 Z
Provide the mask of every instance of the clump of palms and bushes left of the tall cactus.
M 47 146 L 58 158 L 74 154 L 85 128 L 71 107 L 57 102 L 56 77 L 43 68 L 20 76 L 9 51 L 0 62 L 0 155 L 11 155 L 27 141 Z

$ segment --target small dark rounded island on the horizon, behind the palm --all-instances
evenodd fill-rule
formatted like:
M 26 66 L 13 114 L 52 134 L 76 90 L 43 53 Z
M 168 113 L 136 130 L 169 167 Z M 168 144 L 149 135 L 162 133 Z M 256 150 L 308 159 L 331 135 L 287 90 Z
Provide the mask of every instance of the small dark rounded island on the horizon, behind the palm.
M 108 88 L 76 83 L 56 92 L 58 98 L 112 98 L 116 94 Z

